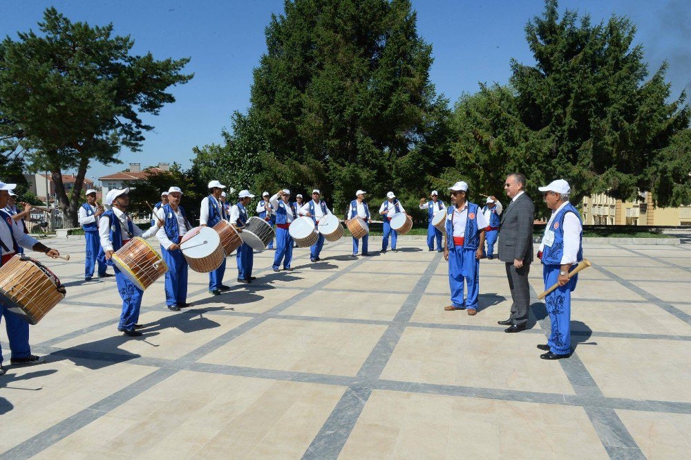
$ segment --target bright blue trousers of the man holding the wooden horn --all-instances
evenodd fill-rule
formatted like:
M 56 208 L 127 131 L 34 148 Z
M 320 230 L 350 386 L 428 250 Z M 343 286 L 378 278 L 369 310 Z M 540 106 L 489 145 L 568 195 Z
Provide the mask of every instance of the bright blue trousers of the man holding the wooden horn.
M 545 289 L 557 282 L 560 271 L 561 267 L 558 265 L 542 266 Z M 577 282 L 578 275 L 572 277 L 565 286 L 556 288 L 545 297 L 547 314 L 552 324 L 547 344 L 549 350 L 557 355 L 571 353 L 571 291 L 574 291 Z

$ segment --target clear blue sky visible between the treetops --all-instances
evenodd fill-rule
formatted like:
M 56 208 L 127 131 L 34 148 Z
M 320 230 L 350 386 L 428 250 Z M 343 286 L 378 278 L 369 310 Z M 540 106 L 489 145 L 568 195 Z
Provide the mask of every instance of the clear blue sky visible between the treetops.
M 0 0 L 0 35 L 16 38 L 17 30 L 37 30 L 47 6 L 72 21 L 112 22 L 115 33 L 135 39 L 135 53 L 192 58 L 186 71 L 195 77 L 173 89 L 177 102 L 160 116 L 145 118 L 155 129 L 146 134 L 142 152 L 120 154 L 124 163 L 142 167 L 173 161 L 187 167 L 192 147 L 220 142 L 230 114 L 249 105 L 252 68 L 265 52 L 264 28 L 271 13 L 283 12 L 283 0 Z M 636 43 L 645 46 L 650 70 L 667 59 L 672 94 L 691 89 L 688 1 L 568 0 L 559 7 L 587 12 L 594 21 L 614 12 L 627 15 L 638 28 Z M 464 92 L 477 91 L 477 82 L 506 83 L 511 57 L 533 62 L 523 28 L 540 15 L 542 0 L 413 0 L 413 8 L 419 35 L 433 45 L 430 79 L 452 103 Z M 93 164 L 88 176 L 124 167 Z

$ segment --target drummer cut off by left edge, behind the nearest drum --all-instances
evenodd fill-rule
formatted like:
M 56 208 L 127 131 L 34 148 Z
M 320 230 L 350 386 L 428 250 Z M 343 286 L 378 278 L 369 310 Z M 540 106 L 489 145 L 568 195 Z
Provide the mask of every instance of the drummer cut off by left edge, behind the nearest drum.
M 16 184 L 0 182 L 0 219 L 3 221 L 0 222 L 0 266 L 12 259 L 19 252 L 20 246 L 37 252 L 44 252 L 48 257 L 55 259 L 55 257 L 60 255 L 58 250 L 47 248 L 43 243 L 39 243 L 27 233 L 24 233 L 12 221 L 10 214 L 2 210 L 7 206 L 8 199 L 10 198 L 9 192 L 14 190 L 16 186 Z M 10 351 L 12 351 L 12 357 L 10 358 L 12 365 L 32 365 L 44 362 L 44 358 L 31 354 L 31 347 L 29 347 L 29 323 L 23 320 L 21 316 L 9 311 L 0 302 L 0 321 L 3 318 L 5 318 Z M 5 374 L 2 360 L 2 350 L 0 349 L 0 376 Z

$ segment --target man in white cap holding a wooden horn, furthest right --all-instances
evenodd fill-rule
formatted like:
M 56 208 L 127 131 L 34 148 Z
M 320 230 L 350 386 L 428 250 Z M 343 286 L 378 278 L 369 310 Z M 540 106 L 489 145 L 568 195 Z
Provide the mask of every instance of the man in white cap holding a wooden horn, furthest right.
M 576 289 L 578 275 L 569 279 L 569 271 L 583 261 L 583 222 L 569 203 L 571 187 L 567 181 L 557 179 L 538 190 L 552 210 L 538 252 L 538 257 L 542 256 L 542 278 L 545 290 L 559 284 L 545 297 L 552 327 L 547 344 L 538 348 L 547 351 L 540 355 L 543 360 L 558 360 L 571 356 L 571 292 Z

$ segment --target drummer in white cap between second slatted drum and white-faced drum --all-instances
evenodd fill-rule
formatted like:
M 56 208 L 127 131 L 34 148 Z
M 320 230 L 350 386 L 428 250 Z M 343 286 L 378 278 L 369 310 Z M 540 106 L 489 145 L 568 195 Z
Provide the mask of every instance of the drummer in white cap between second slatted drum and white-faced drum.
M 187 221 L 187 214 L 180 206 L 182 190 L 180 187 L 170 187 L 168 190 L 168 204 L 158 211 L 158 218 L 163 226 L 156 233 L 161 243 L 161 256 L 168 266 L 166 272 L 165 294 L 166 305 L 170 311 L 180 311 L 187 306 L 187 259 L 182 255 L 180 241 L 184 234 L 192 229 Z

